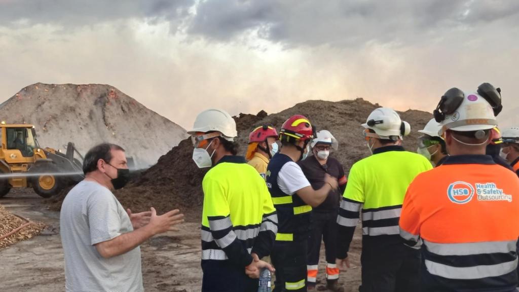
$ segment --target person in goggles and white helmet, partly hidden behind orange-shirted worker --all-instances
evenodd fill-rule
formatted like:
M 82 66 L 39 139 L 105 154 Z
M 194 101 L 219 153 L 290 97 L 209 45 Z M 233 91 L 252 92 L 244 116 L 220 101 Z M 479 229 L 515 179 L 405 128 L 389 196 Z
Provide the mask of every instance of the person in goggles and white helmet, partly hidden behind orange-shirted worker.
M 422 136 L 418 138 L 416 152 L 426 157 L 434 167 L 442 165 L 449 157 L 445 141 L 438 134 L 441 128 L 441 125 L 433 118 L 423 130 L 418 131 Z

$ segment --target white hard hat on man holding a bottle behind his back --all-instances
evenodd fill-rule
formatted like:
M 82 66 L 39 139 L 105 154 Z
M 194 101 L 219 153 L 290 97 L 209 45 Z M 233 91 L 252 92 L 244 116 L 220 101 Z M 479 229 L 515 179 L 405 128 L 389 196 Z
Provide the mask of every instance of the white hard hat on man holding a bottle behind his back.
M 195 135 L 196 132 L 207 133 L 210 131 L 221 132 L 226 140 L 234 141 L 238 136 L 236 131 L 236 122 L 224 110 L 210 109 L 199 113 L 196 117 L 193 129 L 187 131 L 189 135 Z

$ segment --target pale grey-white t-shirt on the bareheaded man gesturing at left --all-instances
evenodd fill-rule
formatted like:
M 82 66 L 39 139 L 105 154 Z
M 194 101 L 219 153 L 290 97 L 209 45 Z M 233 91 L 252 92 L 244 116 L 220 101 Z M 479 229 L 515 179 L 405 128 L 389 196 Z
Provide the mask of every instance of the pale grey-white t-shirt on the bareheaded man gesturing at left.
M 60 214 L 67 292 L 142 292 L 141 249 L 103 258 L 94 244 L 133 231 L 130 217 L 110 190 L 81 181 L 65 197 Z

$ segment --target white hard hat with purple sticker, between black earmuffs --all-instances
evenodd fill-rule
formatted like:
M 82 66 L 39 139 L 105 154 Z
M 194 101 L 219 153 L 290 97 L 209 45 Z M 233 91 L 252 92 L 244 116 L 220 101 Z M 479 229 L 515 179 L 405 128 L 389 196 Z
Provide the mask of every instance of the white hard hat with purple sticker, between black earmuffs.
M 446 130 L 468 132 L 489 130 L 497 126 L 494 110 L 490 104 L 477 93 L 464 92 L 465 97 L 459 107 L 451 114 L 445 115 L 440 124 L 440 136 Z

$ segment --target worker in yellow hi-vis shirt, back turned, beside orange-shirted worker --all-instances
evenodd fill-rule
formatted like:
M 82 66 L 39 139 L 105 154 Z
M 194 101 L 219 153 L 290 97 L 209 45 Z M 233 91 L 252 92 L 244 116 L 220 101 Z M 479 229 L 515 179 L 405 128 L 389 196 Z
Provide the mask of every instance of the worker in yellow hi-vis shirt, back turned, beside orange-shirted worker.
M 353 164 L 348 175 L 337 217 L 337 266 L 349 267 L 348 249 L 362 212 L 359 290 L 415 292 L 419 285 L 420 253 L 404 245 L 398 221 L 407 187 L 432 165 L 424 156 L 407 152 L 400 145 L 411 126 L 394 110 L 376 109 L 362 126 L 373 155 Z

